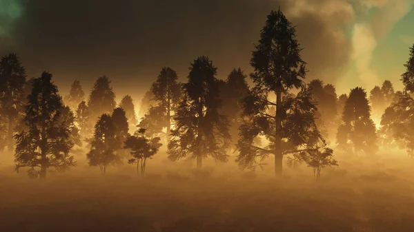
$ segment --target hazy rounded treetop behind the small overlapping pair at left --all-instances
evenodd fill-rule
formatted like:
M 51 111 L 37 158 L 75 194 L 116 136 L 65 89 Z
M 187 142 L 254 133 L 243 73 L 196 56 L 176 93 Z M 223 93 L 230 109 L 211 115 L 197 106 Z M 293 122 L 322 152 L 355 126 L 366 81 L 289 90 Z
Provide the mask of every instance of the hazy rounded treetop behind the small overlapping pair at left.
M 101 114 L 110 114 L 117 106 L 115 94 L 110 87 L 110 80 L 107 76 L 101 76 L 95 82 L 90 92 L 89 101 L 90 119 L 95 122 Z

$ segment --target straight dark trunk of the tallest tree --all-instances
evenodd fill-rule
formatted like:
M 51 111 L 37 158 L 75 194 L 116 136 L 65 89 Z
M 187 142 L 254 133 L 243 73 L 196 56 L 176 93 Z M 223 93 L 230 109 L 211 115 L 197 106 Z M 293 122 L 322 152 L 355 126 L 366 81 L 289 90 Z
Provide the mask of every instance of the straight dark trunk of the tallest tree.
M 276 131 L 275 131 L 275 176 L 282 175 L 282 137 L 279 134 L 280 127 L 282 127 L 282 122 L 280 120 L 280 107 L 282 107 L 282 92 L 278 90 L 276 92 Z

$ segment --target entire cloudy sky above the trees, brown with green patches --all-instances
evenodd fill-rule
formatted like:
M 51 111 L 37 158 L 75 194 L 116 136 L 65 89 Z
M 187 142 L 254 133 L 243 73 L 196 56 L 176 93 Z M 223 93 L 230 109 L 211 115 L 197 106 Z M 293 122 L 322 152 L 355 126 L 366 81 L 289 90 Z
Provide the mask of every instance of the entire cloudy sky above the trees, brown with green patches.
M 62 95 L 79 79 L 88 94 L 109 76 L 119 101 L 139 105 L 161 67 L 186 81 L 197 56 L 226 78 L 248 74 L 266 16 L 279 6 L 296 25 L 307 78 L 339 94 L 400 75 L 414 43 L 414 0 L 0 0 L 0 54 L 16 52 L 29 77 L 54 75 Z

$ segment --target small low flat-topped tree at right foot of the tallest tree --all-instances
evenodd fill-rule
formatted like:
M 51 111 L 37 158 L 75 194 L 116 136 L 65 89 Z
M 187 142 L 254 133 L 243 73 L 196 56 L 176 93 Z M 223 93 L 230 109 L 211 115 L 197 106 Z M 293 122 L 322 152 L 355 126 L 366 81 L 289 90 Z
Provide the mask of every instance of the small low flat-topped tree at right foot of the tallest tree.
M 312 167 L 313 176 L 316 180 L 319 180 L 321 170 L 325 167 L 338 166 L 337 160 L 333 158 L 333 149 L 327 147 L 300 152 L 295 154 L 295 159 L 299 162 L 305 162 L 308 167 Z

